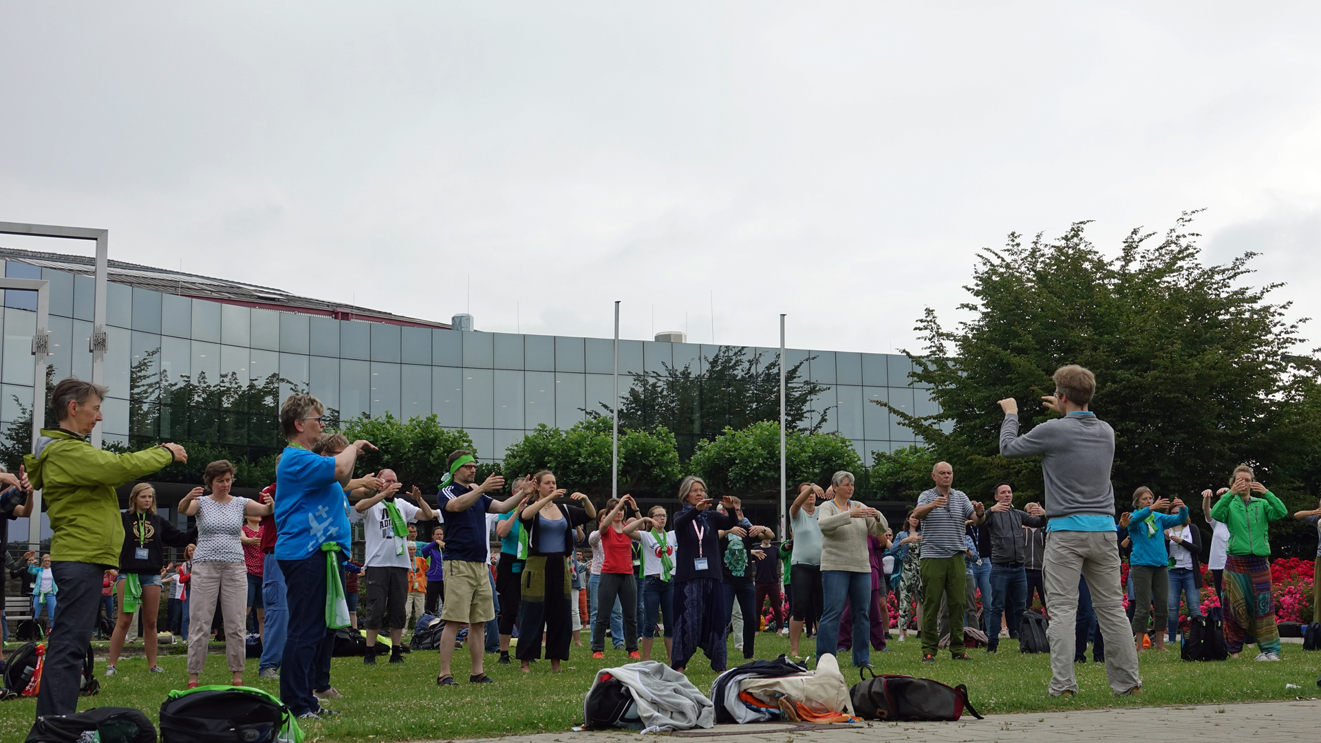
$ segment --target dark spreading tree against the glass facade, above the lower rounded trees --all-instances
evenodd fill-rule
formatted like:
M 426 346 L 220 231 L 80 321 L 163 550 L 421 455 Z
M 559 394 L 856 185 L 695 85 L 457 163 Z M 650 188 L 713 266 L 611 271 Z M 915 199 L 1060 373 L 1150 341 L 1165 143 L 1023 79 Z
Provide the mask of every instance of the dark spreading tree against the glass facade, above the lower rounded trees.
M 807 361 L 810 358 L 785 372 L 785 416 L 791 428 L 804 427 L 812 415 L 812 398 L 828 389 L 801 381 Z M 610 410 L 606 403 L 601 407 L 606 412 Z M 820 411 L 807 430 L 819 431 L 828 414 L 828 410 Z M 697 442 L 713 439 L 727 427 L 745 428 L 758 420 L 779 420 L 779 358 L 762 364 L 761 357 L 749 354 L 746 348 L 720 346 L 703 358 L 700 372 L 691 364 L 682 369 L 667 364 L 663 373 L 638 377 L 620 402 L 621 428 L 645 431 L 664 426 L 675 434 L 683 460 L 692 456 Z

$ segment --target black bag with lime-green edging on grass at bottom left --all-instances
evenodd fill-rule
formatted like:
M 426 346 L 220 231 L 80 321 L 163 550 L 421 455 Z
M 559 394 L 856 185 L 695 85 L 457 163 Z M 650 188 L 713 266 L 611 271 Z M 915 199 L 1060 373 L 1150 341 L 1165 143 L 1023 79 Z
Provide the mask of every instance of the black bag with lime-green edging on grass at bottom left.
M 162 743 L 300 743 L 303 730 L 269 693 L 250 686 L 198 686 L 161 705 Z

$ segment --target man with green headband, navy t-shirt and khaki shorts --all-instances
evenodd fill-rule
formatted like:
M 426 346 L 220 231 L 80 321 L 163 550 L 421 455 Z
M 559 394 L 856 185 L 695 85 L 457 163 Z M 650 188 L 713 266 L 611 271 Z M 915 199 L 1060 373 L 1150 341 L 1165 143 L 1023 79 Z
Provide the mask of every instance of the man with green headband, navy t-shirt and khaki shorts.
M 440 640 L 440 676 L 436 684 L 454 686 L 458 682 L 449 673 L 454 656 L 458 625 L 468 624 L 468 654 L 473 661 L 470 684 L 491 684 L 482 672 L 485 624 L 495 619 L 491 598 L 490 572 L 486 567 L 490 537 L 486 531 L 487 513 L 509 513 L 518 506 L 522 493 L 505 501 L 493 500 L 486 493 L 498 492 L 505 479 L 491 475 L 481 485 L 474 485 L 477 459 L 473 452 L 458 450 L 449 455 L 449 475 L 441 481 L 437 505 L 445 512 L 445 606 L 440 619 L 445 629 Z

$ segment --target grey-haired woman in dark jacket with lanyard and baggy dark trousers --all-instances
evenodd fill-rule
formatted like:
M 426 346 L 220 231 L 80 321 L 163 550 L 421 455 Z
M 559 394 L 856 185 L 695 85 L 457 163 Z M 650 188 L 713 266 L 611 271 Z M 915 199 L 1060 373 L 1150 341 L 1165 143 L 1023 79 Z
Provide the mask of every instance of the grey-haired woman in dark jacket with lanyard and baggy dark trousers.
M 683 508 L 674 517 L 674 652 L 671 666 L 683 673 L 700 648 L 711 670 L 725 670 L 725 586 L 720 559 L 720 530 L 733 529 L 733 501 L 725 513 L 711 508 L 707 483 L 690 475 L 679 484 Z

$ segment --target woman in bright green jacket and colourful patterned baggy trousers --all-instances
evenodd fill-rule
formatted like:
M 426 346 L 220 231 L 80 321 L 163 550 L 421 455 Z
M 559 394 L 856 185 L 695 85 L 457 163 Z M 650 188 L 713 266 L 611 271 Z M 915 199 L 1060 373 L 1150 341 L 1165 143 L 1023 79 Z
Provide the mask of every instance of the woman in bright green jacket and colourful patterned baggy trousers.
M 1262 497 L 1254 497 L 1259 493 Z M 1252 468 L 1234 468 L 1230 490 L 1211 508 L 1211 518 L 1229 526 L 1229 557 L 1225 562 L 1225 646 L 1235 658 L 1243 652 L 1243 636 L 1256 637 L 1259 661 L 1280 660 L 1280 631 L 1275 627 L 1271 598 L 1269 522 L 1288 516 L 1288 509 L 1256 481 Z

